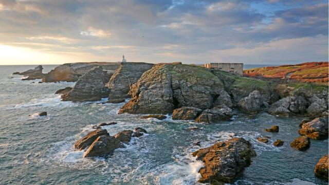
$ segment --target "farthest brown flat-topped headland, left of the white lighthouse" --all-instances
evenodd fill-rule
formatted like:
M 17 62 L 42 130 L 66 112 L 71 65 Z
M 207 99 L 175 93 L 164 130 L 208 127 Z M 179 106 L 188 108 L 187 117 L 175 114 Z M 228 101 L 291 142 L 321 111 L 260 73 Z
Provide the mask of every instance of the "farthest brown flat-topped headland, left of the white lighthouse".
M 118 67 L 119 63 L 109 62 L 89 62 L 89 63 L 67 63 L 62 64 L 47 74 L 42 79 L 43 82 L 76 82 L 80 76 L 84 75 L 95 66 L 102 66 L 108 73 L 113 73 Z

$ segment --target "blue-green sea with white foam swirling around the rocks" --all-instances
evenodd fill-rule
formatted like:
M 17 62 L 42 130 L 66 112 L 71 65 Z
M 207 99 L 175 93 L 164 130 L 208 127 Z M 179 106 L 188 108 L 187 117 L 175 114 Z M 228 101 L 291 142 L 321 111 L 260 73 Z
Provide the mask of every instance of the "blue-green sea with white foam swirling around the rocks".
M 313 170 L 327 154 L 328 140 L 311 141 L 305 152 L 291 149 L 303 118 L 279 118 L 261 113 L 250 119 L 235 110 L 231 121 L 201 124 L 190 121 L 139 119 L 117 115 L 121 104 L 62 102 L 54 95 L 74 83 L 22 81 L 9 75 L 34 66 L 0 66 L 0 184 L 198 184 L 202 162 L 191 153 L 233 134 L 250 140 L 257 157 L 235 184 L 327 184 Z M 53 66 L 44 66 L 45 72 Z M 31 83 L 35 82 L 35 83 Z M 46 111 L 48 116 L 33 114 Z M 29 116 L 32 115 L 32 116 Z M 104 128 L 119 131 L 143 127 L 148 135 L 134 138 L 125 149 L 106 158 L 82 158 L 73 143 L 100 122 L 118 122 Z M 279 133 L 266 133 L 276 124 Z M 189 131 L 189 127 L 199 130 Z M 256 140 L 271 137 L 268 144 Z M 281 139 L 283 147 L 272 142 Z M 193 143 L 201 141 L 201 146 Z

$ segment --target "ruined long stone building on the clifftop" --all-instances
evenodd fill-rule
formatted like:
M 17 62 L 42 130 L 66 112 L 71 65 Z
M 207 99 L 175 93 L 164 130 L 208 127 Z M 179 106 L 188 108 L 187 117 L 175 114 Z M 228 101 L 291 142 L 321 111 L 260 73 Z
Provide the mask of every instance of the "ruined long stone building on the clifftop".
M 206 68 L 220 69 L 243 76 L 243 63 L 210 63 L 204 66 Z

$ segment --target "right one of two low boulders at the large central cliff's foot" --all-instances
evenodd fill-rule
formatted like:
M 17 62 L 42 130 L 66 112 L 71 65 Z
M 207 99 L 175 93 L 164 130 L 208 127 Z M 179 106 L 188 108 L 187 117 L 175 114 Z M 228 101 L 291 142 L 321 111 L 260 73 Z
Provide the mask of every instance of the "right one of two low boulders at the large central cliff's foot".
M 196 122 L 215 123 L 219 121 L 227 121 L 233 116 L 232 109 L 229 107 L 205 109 L 195 119 Z

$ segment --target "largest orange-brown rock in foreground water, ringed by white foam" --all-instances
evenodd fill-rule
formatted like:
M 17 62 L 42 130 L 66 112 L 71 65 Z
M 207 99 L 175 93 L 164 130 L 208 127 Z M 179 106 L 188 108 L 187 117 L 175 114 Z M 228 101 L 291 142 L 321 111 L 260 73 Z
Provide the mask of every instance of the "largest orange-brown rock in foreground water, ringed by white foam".
M 215 143 L 213 146 L 200 149 L 192 154 L 202 160 L 205 167 L 199 170 L 202 183 L 232 183 L 245 167 L 256 156 L 249 141 L 243 138 L 232 138 Z

